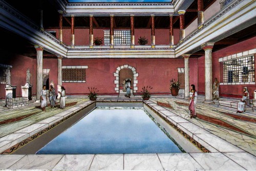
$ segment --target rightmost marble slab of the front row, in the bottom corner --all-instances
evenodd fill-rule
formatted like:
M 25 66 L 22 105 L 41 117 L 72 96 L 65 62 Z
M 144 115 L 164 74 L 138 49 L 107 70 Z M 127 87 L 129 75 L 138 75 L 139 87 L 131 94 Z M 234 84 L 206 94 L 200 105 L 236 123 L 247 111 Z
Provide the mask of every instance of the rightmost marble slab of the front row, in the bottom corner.
M 256 169 L 256 157 L 247 152 L 223 153 L 223 154 L 247 170 Z

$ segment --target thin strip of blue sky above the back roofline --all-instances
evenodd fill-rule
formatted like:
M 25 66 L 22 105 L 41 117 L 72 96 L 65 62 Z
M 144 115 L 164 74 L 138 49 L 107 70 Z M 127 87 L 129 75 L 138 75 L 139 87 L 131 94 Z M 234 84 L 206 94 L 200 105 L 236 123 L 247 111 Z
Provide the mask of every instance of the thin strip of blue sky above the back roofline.
M 155 3 L 155 2 L 164 2 L 169 3 L 172 0 L 68 0 L 70 3 Z

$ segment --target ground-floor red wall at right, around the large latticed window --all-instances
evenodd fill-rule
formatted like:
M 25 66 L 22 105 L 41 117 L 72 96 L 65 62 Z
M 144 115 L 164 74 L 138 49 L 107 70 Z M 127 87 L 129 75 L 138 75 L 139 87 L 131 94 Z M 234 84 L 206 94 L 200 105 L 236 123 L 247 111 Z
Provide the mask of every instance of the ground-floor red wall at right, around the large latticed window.
M 229 47 L 223 48 L 220 51 L 212 53 L 212 81 L 214 78 L 222 80 L 222 74 L 220 72 L 220 63 L 219 58 L 241 53 L 244 51 L 252 50 L 255 48 L 256 37 L 250 38 L 243 42 L 231 45 Z M 255 56 L 255 54 L 254 54 Z M 254 57 L 255 60 L 255 57 Z M 256 66 L 256 64 L 254 64 Z M 255 67 L 254 67 L 255 68 Z M 201 93 L 205 92 L 205 70 L 204 70 L 204 56 L 198 59 L 198 91 Z M 256 80 L 256 77 L 255 77 Z M 220 85 L 220 94 L 221 96 L 232 96 L 232 97 L 241 97 L 243 92 L 243 87 L 248 87 L 250 97 L 253 97 L 253 92 L 256 89 L 256 85 Z

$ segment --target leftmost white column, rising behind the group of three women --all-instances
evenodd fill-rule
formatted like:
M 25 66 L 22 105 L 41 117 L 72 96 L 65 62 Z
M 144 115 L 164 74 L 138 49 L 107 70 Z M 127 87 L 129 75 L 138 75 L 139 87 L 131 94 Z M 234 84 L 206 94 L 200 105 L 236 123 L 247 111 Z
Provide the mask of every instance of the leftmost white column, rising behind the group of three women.
M 41 46 L 35 45 L 36 49 L 36 100 L 40 100 L 42 90 L 42 51 Z

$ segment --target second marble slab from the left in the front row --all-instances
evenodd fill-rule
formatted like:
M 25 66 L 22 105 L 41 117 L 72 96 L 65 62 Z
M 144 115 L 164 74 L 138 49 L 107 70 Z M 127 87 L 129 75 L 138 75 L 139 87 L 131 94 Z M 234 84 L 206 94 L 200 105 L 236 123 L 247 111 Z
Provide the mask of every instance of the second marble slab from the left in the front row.
M 52 169 L 63 155 L 26 155 L 9 169 Z

